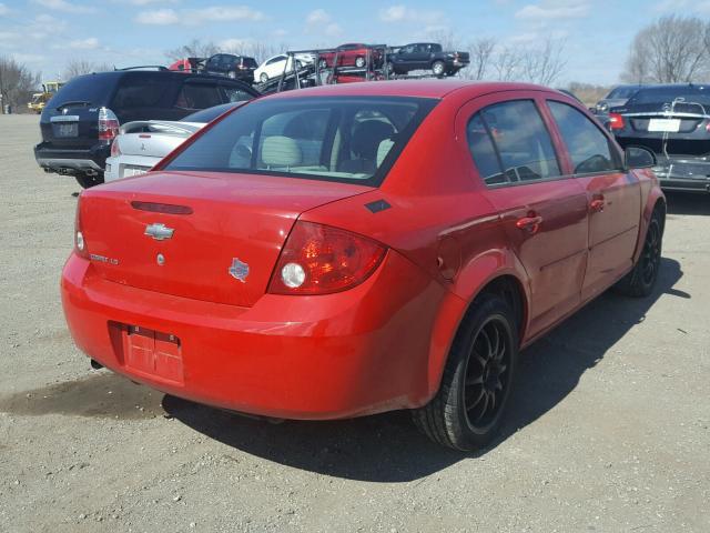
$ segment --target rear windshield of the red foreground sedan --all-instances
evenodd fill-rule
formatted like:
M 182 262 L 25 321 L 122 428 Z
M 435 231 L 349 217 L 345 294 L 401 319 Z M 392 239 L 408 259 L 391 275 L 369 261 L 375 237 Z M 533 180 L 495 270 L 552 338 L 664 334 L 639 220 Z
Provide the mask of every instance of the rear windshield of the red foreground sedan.
M 384 97 L 256 100 L 217 122 L 165 170 L 378 185 L 436 103 Z

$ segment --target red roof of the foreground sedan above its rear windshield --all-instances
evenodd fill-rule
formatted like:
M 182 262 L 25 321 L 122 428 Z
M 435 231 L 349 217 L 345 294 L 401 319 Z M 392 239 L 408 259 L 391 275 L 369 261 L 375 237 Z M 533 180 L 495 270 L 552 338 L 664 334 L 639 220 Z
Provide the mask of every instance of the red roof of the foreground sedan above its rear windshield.
M 457 91 L 465 91 L 469 98 L 500 91 L 548 91 L 554 89 L 531 83 L 487 82 L 465 80 L 392 80 L 369 83 L 342 83 L 320 86 L 298 91 L 286 91 L 266 98 L 303 98 L 303 97 L 414 97 L 444 98 Z

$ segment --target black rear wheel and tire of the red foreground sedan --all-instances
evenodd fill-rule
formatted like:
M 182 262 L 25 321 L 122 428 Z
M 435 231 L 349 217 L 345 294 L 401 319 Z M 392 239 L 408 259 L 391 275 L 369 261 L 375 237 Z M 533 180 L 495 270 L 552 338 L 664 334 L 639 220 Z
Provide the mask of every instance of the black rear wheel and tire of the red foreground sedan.
M 454 339 L 434 399 L 413 411 L 434 442 L 462 451 L 496 435 L 508 404 L 518 359 L 518 330 L 510 305 L 495 294 L 474 303 Z

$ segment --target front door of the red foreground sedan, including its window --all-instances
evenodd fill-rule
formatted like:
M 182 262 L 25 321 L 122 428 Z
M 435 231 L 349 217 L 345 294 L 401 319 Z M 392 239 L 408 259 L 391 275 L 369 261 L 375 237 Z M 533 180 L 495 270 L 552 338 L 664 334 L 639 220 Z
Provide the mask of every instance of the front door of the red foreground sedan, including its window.
M 611 139 L 579 109 L 547 101 L 566 148 L 569 171 L 584 188 L 589 212 L 589 262 L 582 300 L 609 288 L 633 263 L 641 217 L 638 178 L 623 170 Z

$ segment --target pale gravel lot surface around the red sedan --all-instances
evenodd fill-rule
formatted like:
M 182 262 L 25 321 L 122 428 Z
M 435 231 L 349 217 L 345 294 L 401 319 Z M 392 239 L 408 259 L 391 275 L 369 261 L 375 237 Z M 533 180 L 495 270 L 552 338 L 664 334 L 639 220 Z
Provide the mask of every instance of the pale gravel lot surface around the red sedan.
M 525 352 L 491 449 L 406 413 L 272 425 L 92 372 L 59 274 L 79 187 L 0 117 L 0 531 L 710 531 L 710 197 L 671 197 L 648 300 L 605 294 Z

